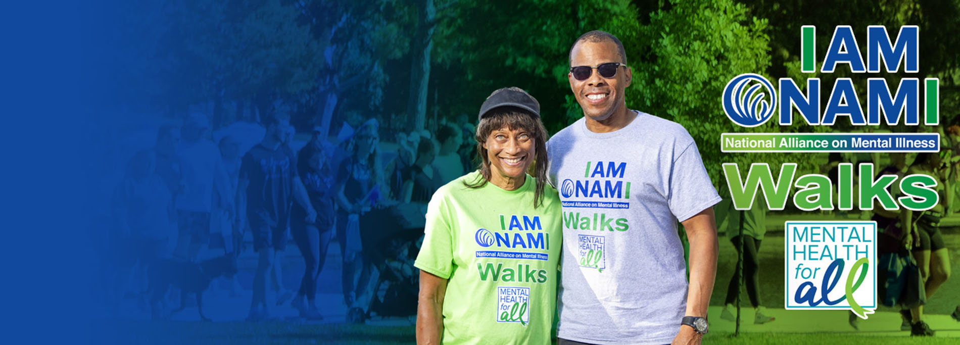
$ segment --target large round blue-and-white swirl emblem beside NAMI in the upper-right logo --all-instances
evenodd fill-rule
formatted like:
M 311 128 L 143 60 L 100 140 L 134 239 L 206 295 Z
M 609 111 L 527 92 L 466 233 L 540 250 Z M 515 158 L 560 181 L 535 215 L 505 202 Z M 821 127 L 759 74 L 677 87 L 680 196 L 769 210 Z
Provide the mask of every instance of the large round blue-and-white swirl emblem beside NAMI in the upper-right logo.
M 723 109 L 736 124 L 756 127 L 774 116 L 777 91 L 766 78 L 744 73 L 733 78 L 724 88 Z

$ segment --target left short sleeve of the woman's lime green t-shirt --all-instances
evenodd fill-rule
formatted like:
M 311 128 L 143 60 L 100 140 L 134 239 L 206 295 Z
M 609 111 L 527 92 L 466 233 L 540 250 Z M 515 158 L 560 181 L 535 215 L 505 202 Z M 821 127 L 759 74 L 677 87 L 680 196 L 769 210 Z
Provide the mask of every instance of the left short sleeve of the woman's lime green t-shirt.
M 453 273 L 453 240 L 443 191 L 427 204 L 423 244 L 414 266 L 434 276 L 449 279 Z

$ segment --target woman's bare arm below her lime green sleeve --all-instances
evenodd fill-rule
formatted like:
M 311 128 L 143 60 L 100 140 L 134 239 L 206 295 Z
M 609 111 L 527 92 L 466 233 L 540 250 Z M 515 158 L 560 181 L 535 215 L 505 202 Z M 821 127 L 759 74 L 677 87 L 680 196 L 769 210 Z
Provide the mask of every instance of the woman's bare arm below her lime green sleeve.
M 417 303 L 417 344 L 440 344 L 444 334 L 446 280 L 420 270 Z

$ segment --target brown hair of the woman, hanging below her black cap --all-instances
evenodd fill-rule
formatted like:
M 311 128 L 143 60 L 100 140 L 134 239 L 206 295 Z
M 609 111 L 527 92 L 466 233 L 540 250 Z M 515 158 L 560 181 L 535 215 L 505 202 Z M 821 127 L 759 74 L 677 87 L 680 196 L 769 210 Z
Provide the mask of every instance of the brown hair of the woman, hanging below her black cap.
M 490 181 L 492 174 L 490 159 L 487 157 L 487 149 L 483 147 L 483 144 L 487 142 L 487 137 L 493 131 L 504 127 L 511 130 L 526 131 L 534 138 L 536 154 L 534 156 L 533 174 L 531 175 L 537 180 L 537 191 L 534 194 L 534 208 L 536 209 L 543 204 L 543 186 L 546 185 L 546 129 L 540 122 L 540 118 L 530 111 L 517 107 L 500 107 L 493 109 L 480 119 L 480 123 L 477 124 L 476 136 L 473 136 L 473 138 L 477 142 L 477 161 L 480 162 L 480 174 L 483 178 L 478 178 L 473 182 L 465 181 L 464 185 L 470 188 L 479 188 L 487 185 Z

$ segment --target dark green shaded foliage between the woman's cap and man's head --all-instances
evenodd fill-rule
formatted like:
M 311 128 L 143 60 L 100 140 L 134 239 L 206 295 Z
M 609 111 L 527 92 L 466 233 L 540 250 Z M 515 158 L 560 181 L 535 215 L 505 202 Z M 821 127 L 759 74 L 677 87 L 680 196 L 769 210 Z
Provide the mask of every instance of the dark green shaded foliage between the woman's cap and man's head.
M 573 41 L 590 30 L 636 35 L 636 15 L 622 0 L 463 2 L 438 29 L 435 57 L 451 72 L 438 80 L 440 106 L 475 116 L 493 89 L 518 86 L 540 101 L 547 129 L 559 131 L 583 116 L 566 79 Z

